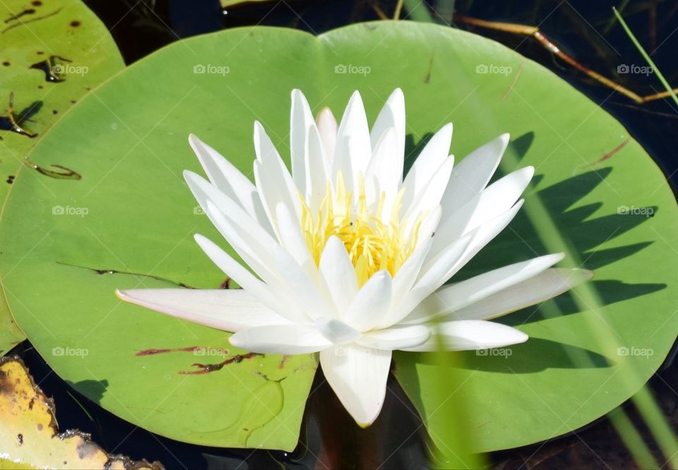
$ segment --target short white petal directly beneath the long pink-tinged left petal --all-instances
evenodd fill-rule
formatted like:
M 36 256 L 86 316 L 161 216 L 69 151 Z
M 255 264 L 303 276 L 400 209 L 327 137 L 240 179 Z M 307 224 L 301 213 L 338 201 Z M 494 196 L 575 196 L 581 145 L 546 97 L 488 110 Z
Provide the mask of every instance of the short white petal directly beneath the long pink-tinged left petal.
M 262 354 L 309 354 L 332 345 L 310 325 L 271 325 L 246 328 L 229 339 L 234 347 Z

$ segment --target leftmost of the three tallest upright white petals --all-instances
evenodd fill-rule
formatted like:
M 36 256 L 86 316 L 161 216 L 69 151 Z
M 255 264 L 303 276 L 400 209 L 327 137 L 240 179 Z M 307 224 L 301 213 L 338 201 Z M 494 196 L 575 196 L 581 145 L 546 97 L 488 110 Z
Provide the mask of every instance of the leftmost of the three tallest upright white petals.
M 290 155 L 292 155 L 292 179 L 302 194 L 306 193 L 307 135 L 315 126 L 313 114 L 306 97 L 300 90 L 292 90 L 290 111 Z

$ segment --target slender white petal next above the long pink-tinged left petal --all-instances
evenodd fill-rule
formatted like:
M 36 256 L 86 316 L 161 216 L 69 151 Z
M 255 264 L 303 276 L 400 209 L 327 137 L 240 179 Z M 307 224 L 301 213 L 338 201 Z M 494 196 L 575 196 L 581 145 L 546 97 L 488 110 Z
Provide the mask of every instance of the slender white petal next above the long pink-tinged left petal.
M 293 322 L 309 322 L 307 315 L 298 310 L 295 304 L 280 302 L 280 298 L 273 293 L 270 287 L 259 279 L 256 279 L 251 272 L 242 267 L 242 265 L 215 245 L 215 243 L 202 235 L 196 235 L 195 239 L 215 265 L 237 282 L 243 289 L 270 308 L 270 310 L 283 315 Z

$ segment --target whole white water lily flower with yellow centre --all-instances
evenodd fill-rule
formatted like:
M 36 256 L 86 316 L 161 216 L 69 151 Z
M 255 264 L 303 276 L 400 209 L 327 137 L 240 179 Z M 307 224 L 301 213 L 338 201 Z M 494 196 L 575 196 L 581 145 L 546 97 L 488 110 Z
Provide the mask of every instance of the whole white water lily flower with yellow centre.
M 525 167 L 487 186 L 509 135 L 453 167 L 452 125 L 403 175 L 405 101 L 399 89 L 369 131 L 352 95 L 337 123 L 317 123 L 292 92 L 292 172 L 254 124 L 254 180 L 191 135 L 209 181 L 185 171 L 198 203 L 252 271 L 212 241 L 205 253 L 242 289 L 138 289 L 120 299 L 234 332 L 259 353 L 320 353 L 329 384 L 361 426 L 379 415 L 391 351 L 505 347 L 528 339 L 487 321 L 557 296 L 590 277 L 551 268 L 562 254 L 444 285 L 506 227 L 533 176 Z M 403 177 L 404 176 L 404 177 Z

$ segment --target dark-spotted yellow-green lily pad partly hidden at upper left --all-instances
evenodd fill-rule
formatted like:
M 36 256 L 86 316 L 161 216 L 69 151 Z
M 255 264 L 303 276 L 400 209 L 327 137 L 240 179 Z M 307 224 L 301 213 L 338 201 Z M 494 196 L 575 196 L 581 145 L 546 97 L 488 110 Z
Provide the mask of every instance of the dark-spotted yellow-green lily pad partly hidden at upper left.
M 79 0 L 6 0 L 0 4 L 0 20 L 0 174 L 6 180 L 0 184 L 0 200 L 4 201 L 25 157 L 47 129 L 124 63 L 105 25 Z M 11 94 L 14 123 L 24 134 L 10 130 Z M 44 162 L 44 168 L 67 173 L 50 167 L 54 163 L 59 164 Z M 28 172 L 26 176 L 31 177 Z M 1 354 L 25 335 L 0 296 Z

